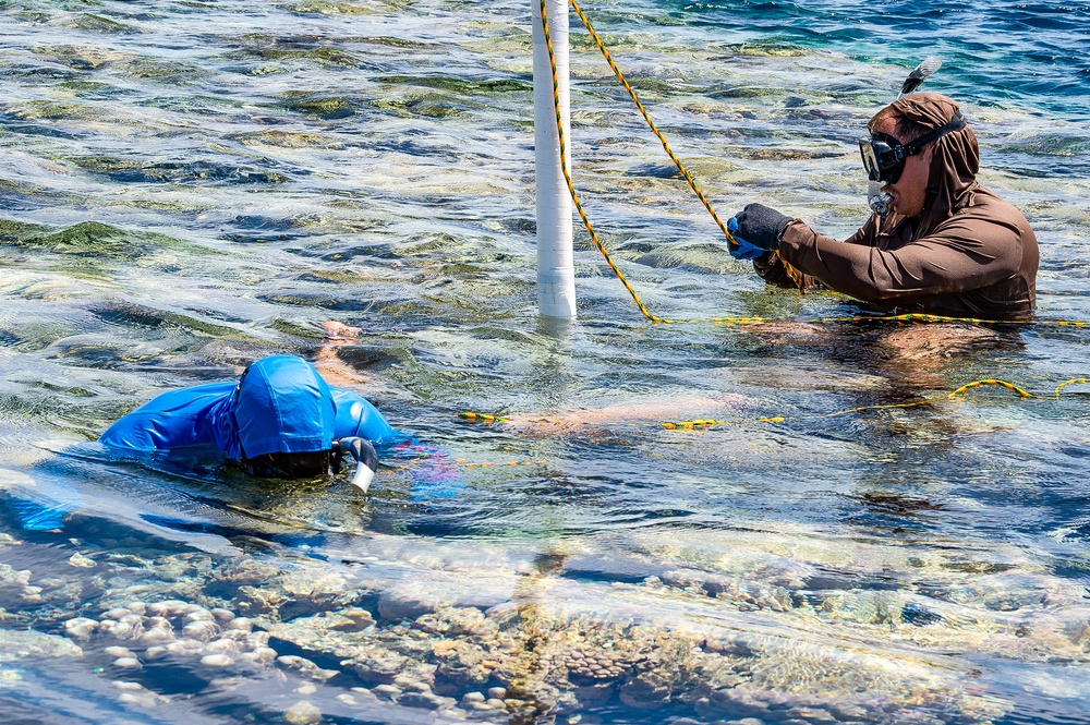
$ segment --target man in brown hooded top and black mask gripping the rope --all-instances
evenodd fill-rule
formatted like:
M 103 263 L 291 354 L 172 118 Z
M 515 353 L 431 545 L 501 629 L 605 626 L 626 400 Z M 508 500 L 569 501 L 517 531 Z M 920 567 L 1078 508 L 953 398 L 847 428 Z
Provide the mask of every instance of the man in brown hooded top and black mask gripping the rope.
M 1022 321 L 1036 304 L 1037 238 L 977 180 L 977 137 L 957 104 L 912 94 L 882 109 L 860 142 L 893 212 L 843 242 L 750 204 L 729 228 L 737 258 L 778 285 L 826 287 L 884 311 Z M 794 267 L 794 273 L 785 265 Z

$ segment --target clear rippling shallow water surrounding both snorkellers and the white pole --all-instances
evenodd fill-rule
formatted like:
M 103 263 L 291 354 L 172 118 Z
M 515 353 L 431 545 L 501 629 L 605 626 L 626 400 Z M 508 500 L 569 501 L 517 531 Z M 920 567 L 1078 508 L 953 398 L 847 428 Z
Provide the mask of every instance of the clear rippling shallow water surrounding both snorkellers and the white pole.
M 585 10 L 720 215 L 760 200 L 833 234 L 864 210 L 865 119 L 940 55 L 925 87 L 964 102 L 984 182 L 1038 231 L 1040 316 L 1090 321 L 1085 5 Z M 1087 334 L 798 322 L 853 309 L 766 290 L 729 259 L 574 26 L 577 184 L 649 306 L 785 323 L 649 326 L 585 249 L 579 323 L 541 322 L 521 2 L 0 12 L 0 480 L 9 497 L 83 500 L 61 534 L 3 508 L 3 712 L 1080 722 L 1080 389 L 820 416 L 979 377 L 1049 394 L 1090 372 Z M 363 330 L 337 358 L 462 461 L 457 482 L 395 461 L 360 502 L 81 445 L 158 391 L 322 354 L 329 319 Z M 572 423 L 577 408 L 606 412 Z M 693 418 L 737 424 L 657 425 Z M 219 645 L 223 664 L 208 644 L 156 657 L 123 627 L 65 629 L 173 600 L 254 619 L 289 658 L 259 633 Z M 164 618 L 196 641 L 182 606 Z M 375 625 L 337 619 L 353 609 Z M 461 702 L 500 686 L 524 704 Z

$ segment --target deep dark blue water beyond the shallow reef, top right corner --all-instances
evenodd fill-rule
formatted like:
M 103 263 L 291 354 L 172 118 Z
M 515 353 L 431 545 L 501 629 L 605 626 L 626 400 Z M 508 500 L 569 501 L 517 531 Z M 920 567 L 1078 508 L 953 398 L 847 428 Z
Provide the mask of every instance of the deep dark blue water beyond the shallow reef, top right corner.
M 659 2 L 686 25 L 746 43 L 829 50 L 871 63 L 943 59 L 952 96 L 1080 121 L 1090 97 L 1090 5 L 1013 2 Z M 938 78 L 936 78 L 937 81 Z

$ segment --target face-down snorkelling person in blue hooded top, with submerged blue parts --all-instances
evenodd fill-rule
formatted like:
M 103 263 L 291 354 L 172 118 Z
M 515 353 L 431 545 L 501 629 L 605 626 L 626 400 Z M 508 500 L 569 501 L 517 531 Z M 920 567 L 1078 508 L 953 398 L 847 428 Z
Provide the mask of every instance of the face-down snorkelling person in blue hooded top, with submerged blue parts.
M 305 479 L 338 473 L 352 458 L 358 462 L 352 483 L 362 492 L 378 468 L 377 447 L 390 460 L 411 464 L 414 499 L 453 496 L 462 485 L 445 450 L 391 427 L 365 399 L 327 384 L 314 365 L 294 355 L 257 360 L 237 382 L 164 392 L 118 420 L 98 440 L 114 456 L 148 459 L 158 470 L 166 463 L 175 472 L 211 458 L 257 476 Z M 59 531 L 68 513 L 87 502 L 66 480 L 36 478 L 21 495 L 4 500 L 23 529 Z M 164 518 L 153 509 L 140 518 Z

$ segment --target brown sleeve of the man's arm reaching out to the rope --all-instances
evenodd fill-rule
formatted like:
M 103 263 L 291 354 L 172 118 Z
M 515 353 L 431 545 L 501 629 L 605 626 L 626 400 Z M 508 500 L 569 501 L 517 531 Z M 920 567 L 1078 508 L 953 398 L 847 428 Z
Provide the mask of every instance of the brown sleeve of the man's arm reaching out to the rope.
M 880 249 L 876 217 L 844 242 L 791 220 L 779 255 L 829 289 L 872 303 L 956 294 L 1005 279 L 1021 265 L 1018 227 L 956 214 L 934 232 Z

